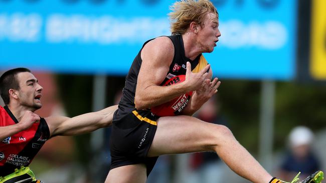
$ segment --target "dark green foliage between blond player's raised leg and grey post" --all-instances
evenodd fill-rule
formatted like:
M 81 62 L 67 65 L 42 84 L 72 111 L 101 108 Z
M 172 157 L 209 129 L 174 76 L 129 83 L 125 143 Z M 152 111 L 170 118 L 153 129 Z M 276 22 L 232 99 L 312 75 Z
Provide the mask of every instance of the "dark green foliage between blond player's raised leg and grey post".
M 257 151 L 260 82 L 222 80 L 218 91 L 221 113 L 239 142 L 250 152 Z

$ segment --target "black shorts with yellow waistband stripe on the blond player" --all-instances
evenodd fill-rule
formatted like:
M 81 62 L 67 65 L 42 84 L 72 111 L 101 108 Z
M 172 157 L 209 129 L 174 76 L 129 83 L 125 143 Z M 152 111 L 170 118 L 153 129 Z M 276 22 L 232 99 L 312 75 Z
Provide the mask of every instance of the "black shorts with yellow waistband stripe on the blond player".
M 147 157 L 147 152 L 154 138 L 158 118 L 148 110 L 133 110 L 120 120 L 113 119 L 110 136 L 111 169 L 143 163 L 148 176 L 157 160 L 157 157 Z

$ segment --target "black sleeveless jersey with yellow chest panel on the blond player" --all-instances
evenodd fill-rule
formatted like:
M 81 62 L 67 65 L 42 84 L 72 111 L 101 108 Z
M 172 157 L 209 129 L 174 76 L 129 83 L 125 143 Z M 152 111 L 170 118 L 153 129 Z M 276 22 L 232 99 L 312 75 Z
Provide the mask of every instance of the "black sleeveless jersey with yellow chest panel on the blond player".
M 170 69 L 167 73 L 167 76 L 164 79 L 164 81 L 162 81 L 162 83 L 166 82 L 167 80 L 169 80 L 170 78 L 176 75 L 186 74 L 187 61 L 191 63 L 192 72 L 199 72 L 208 64 L 207 60 L 202 54 L 198 55 L 194 60 L 191 60 L 186 57 L 182 35 L 177 34 L 177 35 L 170 35 L 168 37 L 173 42 L 173 45 L 175 47 L 175 54 L 172 63 L 170 65 Z M 142 48 L 150 40 L 147 40 L 143 44 Z M 120 120 L 129 112 L 136 109 L 134 104 L 134 97 L 136 91 L 137 77 L 142 62 L 140 56 L 142 48 L 138 52 L 137 56 L 134 58 L 131 67 L 129 69 L 129 72 L 126 76 L 125 86 L 122 90 L 122 97 L 119 102 L 118 110 L 114 112 L 113 121 Z

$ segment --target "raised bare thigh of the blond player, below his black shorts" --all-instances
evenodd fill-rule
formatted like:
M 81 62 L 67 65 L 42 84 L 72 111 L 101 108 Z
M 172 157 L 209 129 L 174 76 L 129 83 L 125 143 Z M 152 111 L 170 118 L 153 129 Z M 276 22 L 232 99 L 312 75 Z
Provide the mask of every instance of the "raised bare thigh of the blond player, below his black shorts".
M 160 117 L 147 156 L 213 150 L 219 128 L 192 116 Z

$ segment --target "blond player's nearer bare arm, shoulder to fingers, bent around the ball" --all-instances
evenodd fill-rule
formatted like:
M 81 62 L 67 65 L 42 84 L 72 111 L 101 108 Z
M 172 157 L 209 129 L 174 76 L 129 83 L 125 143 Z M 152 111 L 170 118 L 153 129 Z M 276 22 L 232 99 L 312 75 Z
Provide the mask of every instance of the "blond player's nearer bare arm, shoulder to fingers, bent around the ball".
M 202 84 L 207 73 L 192 73 L 191 65 L 188 62 L 184 82 L 160 86 L 159 84 L 167 76 L 173 56 L 174 46 L 168 37 L 157 37 L 143 47 L 141 51 L 142 63 L 135 92 L 135 106 L 137 109 L 165 103 L 183 93 L 197 89 Z

